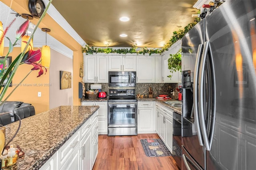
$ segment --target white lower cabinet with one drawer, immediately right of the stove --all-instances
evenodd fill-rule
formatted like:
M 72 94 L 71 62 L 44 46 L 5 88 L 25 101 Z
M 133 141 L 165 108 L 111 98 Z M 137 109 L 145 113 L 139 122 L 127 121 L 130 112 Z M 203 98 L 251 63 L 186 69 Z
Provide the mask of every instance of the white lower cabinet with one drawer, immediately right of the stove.
M 155 133 L 154 101 L 138 102 L 138 133 Z

